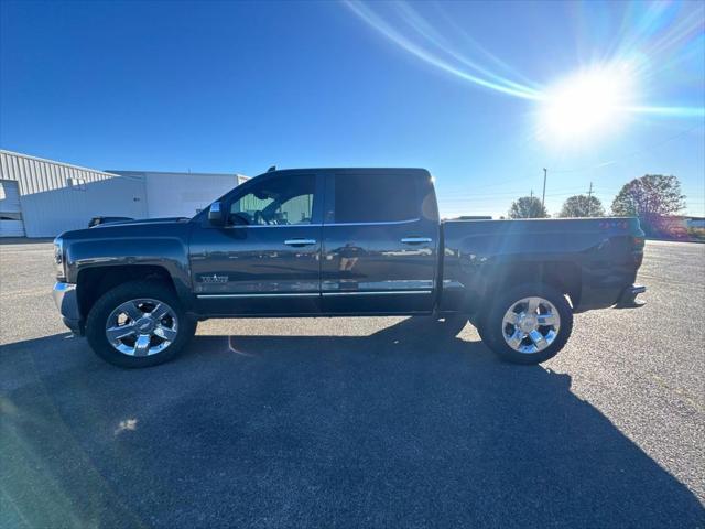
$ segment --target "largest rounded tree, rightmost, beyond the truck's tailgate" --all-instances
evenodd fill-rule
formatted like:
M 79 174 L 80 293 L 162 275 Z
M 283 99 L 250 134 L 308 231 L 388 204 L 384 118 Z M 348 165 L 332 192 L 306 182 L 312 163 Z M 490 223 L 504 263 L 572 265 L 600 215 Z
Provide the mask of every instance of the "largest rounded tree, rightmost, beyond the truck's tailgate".
M 649 233 L 658 231 L 660 220 L 685 207 L 679 179 L 663 174 L 647 174 L 625 184 L 612 202 L 612 214 L 639 217 Z

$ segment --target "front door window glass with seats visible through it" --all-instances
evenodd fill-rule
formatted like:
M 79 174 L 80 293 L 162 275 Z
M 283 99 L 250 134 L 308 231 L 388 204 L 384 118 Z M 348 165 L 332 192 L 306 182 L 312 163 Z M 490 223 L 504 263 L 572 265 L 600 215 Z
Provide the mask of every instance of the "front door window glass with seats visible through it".
M 315 175 L 274 176 L 253 183 L 230 205 L 230 224 L 281 226 L 311 224 Z

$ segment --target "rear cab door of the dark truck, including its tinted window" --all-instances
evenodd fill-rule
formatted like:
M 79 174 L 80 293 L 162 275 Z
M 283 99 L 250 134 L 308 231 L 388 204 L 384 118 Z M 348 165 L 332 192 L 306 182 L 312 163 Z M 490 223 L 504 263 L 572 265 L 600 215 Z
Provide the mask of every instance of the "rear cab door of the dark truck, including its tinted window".
M 438 218 L 431 175 L 344 170 L 326 176 L 323 312 L 433 310 Z

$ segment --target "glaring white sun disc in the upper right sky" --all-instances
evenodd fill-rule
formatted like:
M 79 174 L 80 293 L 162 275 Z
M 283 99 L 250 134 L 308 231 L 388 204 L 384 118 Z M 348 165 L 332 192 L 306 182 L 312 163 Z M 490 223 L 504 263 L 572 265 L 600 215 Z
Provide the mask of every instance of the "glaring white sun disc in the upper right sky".
M 633 99 L 629 71 L 618 66 L 577 72 L 542 97 L 541 134 L 552 142 L 584 142 L 622 125 Z

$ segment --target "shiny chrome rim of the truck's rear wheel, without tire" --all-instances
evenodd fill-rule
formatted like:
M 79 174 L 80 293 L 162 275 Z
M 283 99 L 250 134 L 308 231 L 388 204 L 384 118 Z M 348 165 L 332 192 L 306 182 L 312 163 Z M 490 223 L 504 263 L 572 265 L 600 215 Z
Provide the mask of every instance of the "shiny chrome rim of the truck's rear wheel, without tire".
M 558 336 L 561 316 L 549 300 L 523 298 L 505 313 L 502 336 L 518 353 L 540 353 Z

